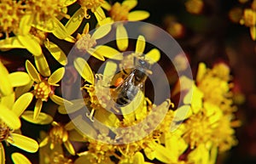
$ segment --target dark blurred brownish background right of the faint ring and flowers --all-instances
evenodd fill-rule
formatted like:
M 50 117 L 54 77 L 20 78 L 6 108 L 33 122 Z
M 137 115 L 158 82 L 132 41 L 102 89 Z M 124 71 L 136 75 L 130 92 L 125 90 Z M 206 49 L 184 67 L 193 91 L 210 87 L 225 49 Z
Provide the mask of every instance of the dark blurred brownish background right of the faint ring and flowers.
M 187 54 L 192 69 L 199 62 L 212 67 L 224 62 L 233 76 L 239 144 L 219 155 L 218 163 L 256 163 L 256 42 L 250 26 L 242 25 L 250 0 L 141 0 L 137 9 L 149 11 L 148 23 L 168 31 Z M 253 6 L 254 5 L 254 6 Z M 255 11 L 255 10 L 254 10 Z M 255 25 L 256 16 L 252 17 Z M 255 38 L 254 38 L 255 40 Z

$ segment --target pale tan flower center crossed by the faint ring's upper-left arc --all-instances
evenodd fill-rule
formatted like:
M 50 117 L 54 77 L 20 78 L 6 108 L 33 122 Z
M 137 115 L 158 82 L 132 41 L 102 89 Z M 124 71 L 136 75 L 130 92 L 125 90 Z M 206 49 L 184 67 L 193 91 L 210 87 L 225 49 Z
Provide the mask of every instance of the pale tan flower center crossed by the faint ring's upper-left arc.
M 80 52 L 86 53 L 89 48 L 96 45 L 96 39 L 91 37 L 90 34 L 82 35 L 76 42 L 76 47 Z

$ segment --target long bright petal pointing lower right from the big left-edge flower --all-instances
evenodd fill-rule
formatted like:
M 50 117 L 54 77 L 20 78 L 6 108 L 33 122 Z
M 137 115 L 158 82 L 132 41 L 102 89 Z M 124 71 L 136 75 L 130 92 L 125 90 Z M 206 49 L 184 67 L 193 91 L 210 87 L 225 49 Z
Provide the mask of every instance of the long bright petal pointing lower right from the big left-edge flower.
M 7 139 L 9 144 L 12 144 L 21 150 L 25 150 L 30 153 L 35 153 L 38 151 L 38 142 L 34 139 L 30 139 L 26 136 L 20 135 L 18 133 L 12 133 L 12 135 Z

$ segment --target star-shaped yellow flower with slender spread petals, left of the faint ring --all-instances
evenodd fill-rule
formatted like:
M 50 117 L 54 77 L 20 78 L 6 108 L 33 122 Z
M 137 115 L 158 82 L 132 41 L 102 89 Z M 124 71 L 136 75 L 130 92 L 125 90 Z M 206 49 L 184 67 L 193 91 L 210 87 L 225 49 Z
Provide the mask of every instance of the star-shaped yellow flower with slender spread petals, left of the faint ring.
M 38 71 L 32 65 L 32 63 L 29 60 L 26 60 L 26 71 L 28 72 L 32 81 L 35 82 L 32 93 L 37 99 L 37 103 L 35 105 L 33 119 L 38 118 L 42 109 L 43 101 L 51 99 L 57 105 L 63 105 L 64 101 L 67 101 L 54 93 L 55 87 L 59 86 L 57 82 L 60 82 L 61 78 L 64 76 L 65 70 L 63 67 L 56 70 L 49 77 L 43 77 L 38 74 Z

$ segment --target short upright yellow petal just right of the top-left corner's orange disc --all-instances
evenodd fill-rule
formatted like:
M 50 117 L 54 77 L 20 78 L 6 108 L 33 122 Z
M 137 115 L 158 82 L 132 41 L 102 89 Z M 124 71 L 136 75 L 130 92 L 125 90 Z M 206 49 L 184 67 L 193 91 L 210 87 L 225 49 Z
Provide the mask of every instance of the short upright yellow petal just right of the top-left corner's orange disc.
M 20 34 L 25 36 L 29 34 L 29 31 L 32 27 L 33 16 L 32 14 L 25 14 L 20 20 Z

